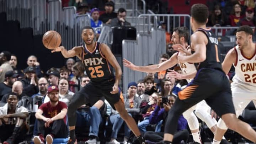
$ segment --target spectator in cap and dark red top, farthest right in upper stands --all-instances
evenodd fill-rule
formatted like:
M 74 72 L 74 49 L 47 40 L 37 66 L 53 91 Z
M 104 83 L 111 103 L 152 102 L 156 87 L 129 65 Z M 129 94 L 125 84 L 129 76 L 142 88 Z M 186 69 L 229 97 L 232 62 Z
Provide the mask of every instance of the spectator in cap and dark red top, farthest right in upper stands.
M 254 9 L 252 7 L 247 7 L 245 11 L 245 17 L 237 23 L 237 26 L 244 25 L 255 26 Z

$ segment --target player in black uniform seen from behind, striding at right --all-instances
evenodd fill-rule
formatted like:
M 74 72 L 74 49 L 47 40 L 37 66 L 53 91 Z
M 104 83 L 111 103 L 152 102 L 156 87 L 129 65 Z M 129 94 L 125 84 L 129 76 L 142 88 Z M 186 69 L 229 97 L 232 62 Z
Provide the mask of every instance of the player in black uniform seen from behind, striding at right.
M 208 7 L 194 4 L 191 8 L 192 55 L 178 55 L 178 61 L 199 63 L 196 76 L 188 86 L 178 93 L 174 106 L 166 119 L 164 144 L 170 144 L 177 129 L 179 116 L 196 103 L 206 100 L 207 104 L 224 120 L 228 128 L 256 142 L 256 132 L 236 118 L 232 102 L 230 83 L 219 62 L 218 39 L 206 29 Z M 174 48 L 181 47 L 174 45 Z

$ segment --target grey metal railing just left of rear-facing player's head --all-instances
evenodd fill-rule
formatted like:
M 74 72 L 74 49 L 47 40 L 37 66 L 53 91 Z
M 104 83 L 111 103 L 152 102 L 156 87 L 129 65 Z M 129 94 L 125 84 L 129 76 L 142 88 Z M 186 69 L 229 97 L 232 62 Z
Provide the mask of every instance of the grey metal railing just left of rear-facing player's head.
M 157 17 L 157 18 L 154 18 Z M 148 25 L 146 25 L 145 21 L 143 21 L 143 29 L 138 30 L 138 31 L 143 31 L 144 33 L 149 32 L 152 27 L 157 28 L 156 23 L 159 21 L 165 21 L 166 22 L 166 27 L 167 27 L 167 32 L 170 32 L 172 29 L 175 27 L 180 27 L 180 26 L 186 26 L 189 28 L 191 32 L 191 26 L 190 26 L 190 15 L 176 15 L 176 14 L 142 14 L 138 16 L 138 20 L 136 23 L 137 28 L 139 28 L 140 23 L 138 23 L 140 18 L 146 18 L 148 21 L 153 20 L 154 25 L 150 25 L 150 22 Z M 145 29 L 145 26 L 147 27 Z

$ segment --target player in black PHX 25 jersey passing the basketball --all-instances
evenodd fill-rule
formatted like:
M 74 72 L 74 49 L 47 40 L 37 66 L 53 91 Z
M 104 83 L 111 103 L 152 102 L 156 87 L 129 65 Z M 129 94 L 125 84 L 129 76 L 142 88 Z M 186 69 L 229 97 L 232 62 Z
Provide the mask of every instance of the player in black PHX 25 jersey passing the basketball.
M 75 93 L 68 106 L 70 143 L 75 143 L 75 111 L 81 105 L 89 103 L 93 105 L 103 96 L 119 112 L 139 142 L 144 144 L 144 138 L 140 135 L 137 124 L 124 107 L 123 96 L 118 88 L 122 70 L 116 58 L 106 44 L 94 41 L 94 30 L 91 27 L 84 27 L 81 37 L 84 41 L 82 46 L 73 47 L 71 50 L 66 50 L 61 46 L 52 50 L 52 52 L 61 52 L 65 58 L 77 56 L 84 64 L 86 73 L 91 79 L 89 84 Z

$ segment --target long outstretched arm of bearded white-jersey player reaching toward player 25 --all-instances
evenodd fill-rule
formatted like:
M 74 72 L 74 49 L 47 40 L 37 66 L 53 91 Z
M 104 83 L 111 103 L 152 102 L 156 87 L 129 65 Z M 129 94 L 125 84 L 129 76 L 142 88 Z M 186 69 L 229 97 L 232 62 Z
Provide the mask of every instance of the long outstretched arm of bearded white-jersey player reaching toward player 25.
M 161 64 L 154 64 L 154 65 L 148 65 L 148 66 L 137 66 L 134 65 L 132 62 L 130 62 L 127 59 L 123 59 L 123 64 L 129 69 L 141 71 L 145 73 L 156 73 L 159 71 L 167 70 L 177 64 L 177 54 L 174 53 L 170 59 L 166 60 L 165 62 Z

